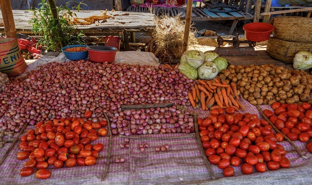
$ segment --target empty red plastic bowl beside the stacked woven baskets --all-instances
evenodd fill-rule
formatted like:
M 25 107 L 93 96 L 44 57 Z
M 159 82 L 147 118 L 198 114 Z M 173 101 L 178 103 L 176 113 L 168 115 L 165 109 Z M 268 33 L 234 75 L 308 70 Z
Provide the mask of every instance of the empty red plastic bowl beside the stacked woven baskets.
M 275 29 L 272 24 L 264 22 L 252 22 L 243 26 L 245 38 L 252 42 L 261 42 L 270 38 L 271 32 Z

